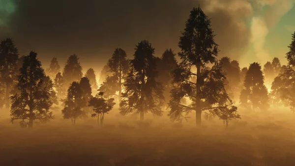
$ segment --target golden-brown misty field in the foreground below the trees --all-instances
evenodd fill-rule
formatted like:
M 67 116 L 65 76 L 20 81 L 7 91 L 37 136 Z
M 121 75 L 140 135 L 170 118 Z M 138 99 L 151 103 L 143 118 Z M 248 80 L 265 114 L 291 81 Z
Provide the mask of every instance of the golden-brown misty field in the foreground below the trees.
M 164 117 L 111 114 L 104 127 L 95 118 L 72 125 L 60 115 L 33 129 L 1 116 L 0 166 L 294 166 L 295 114 L 241 111 L 230 122 L 203 119 L 173 124 Z M 192 115 L 193 116 L 193 115 Z

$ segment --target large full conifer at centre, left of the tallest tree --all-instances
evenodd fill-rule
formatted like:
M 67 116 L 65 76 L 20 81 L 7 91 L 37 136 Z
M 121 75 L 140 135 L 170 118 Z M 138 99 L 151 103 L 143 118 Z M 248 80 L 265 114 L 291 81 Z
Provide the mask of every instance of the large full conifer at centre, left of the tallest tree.
M 147 112 L 162 115 L 163 87 L 156 81 L 156 58 L 153 54 L 154 48 L 147 40 L 136 46 L 134 59 L 130 61 L 132 69 L 126 77 L 125 92 L 120 101 L 122 115 L 140 113 L 141 120 Z

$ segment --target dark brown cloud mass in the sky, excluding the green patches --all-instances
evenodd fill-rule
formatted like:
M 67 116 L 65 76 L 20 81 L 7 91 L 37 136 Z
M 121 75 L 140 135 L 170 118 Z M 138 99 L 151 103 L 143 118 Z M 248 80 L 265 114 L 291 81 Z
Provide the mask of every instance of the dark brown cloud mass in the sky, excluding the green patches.
M 240 50 L 249 43 L 249 31 L 237 22 L 243 21 L 247 13 L 241 10 L 233 14 L 216 6 L 209 9 L 209 1 L 19 0 L 8 25 L 1 27 L 6 33 L 0 37 L 12 37 L 21 55 L 30 50 L 38 52 L 45 67 L 54 56 L 63 66 L 75 53 L 84 70 L 93 67 L 99 73 L 116 47 L 125 49 L 132 58 L 135 45 L 143 39 L 151 42 L 157 56 L 166 48 L 179 51 L 180 31 L 190 10 L 201 3 L 212 18 L 220 54 L 238 59 Z

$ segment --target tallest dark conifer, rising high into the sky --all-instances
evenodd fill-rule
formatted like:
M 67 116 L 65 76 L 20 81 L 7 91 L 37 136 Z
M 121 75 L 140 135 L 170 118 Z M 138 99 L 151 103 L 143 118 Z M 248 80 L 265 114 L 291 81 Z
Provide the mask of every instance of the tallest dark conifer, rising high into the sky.
M 210 20 L 200 8 L 194 8 L 186 22 L 186 27 L 178 46 L 181 63 L 174 71 L 174 82 L 178 88 L 171 91 L 169 116 L 173 120 L 181 120 L 182 113 L 196 111 L 196 124 L 201 124 L 202 111 L 218 107 L 226 103 L 228 95 L 224 88 L 225 75 L 218 65 L 217 44 L 214 42 L 214 33 L 210 28 Z M 211 69 L 207 64 L 214 64 Z M 197 68 L 197 73 L 191 71 Z M 201 69 L 203 68 L 203 69 Z M 191 78 L 196 76 L 196 82 Z M 181 99 L 189 97 L 190 105 L 184 105 Z

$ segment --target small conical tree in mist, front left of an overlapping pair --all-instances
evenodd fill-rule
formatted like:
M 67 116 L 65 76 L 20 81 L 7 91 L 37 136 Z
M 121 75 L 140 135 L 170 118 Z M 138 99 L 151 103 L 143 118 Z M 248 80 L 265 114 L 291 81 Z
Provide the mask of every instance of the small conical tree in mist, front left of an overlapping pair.
M 76 119 L 86 116 L 82 109 L 83 102 L 81 86 L 79 82 L 74 81 L 67 90 L 64 108 L 61 110 L 63 118 L 70 119 L 73 125 L 76 124 Z

